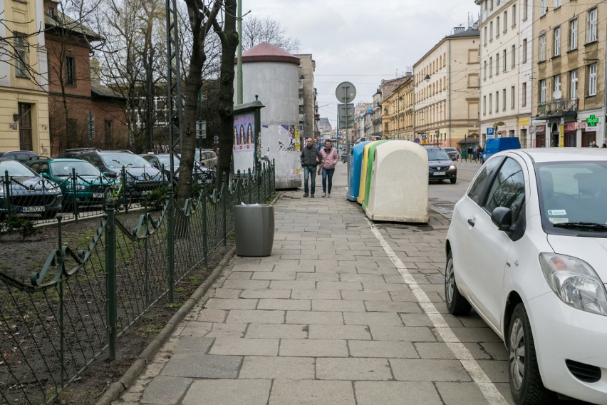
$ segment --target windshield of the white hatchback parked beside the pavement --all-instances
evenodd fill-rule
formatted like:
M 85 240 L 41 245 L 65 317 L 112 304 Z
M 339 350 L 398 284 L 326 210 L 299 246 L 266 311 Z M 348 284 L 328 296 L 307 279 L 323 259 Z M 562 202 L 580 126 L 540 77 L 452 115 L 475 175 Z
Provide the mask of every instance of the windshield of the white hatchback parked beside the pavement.
M 567 234 L 607 224 L 607 161 L 536 163 L 541 222 Z

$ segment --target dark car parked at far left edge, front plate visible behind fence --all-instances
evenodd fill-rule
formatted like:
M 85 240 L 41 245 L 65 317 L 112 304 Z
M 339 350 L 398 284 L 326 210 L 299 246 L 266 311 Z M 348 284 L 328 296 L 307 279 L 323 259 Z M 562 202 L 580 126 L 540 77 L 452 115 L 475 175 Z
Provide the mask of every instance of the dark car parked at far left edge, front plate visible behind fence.
M 11 159 L 0 158 L 0 173 L 0 217 L 12 211 L 49 218 L 61 210 L 63 195 L 53 181 Z

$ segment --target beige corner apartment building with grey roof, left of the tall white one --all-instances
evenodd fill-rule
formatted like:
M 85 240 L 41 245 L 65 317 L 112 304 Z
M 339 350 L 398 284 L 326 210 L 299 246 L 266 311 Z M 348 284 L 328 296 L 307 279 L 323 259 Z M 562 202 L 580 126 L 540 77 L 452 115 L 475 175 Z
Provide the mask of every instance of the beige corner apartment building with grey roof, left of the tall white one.
M 413 65 L 413 128 L 422 144 L 457 146 L 479 111 L 479 30 L 456 27 Z

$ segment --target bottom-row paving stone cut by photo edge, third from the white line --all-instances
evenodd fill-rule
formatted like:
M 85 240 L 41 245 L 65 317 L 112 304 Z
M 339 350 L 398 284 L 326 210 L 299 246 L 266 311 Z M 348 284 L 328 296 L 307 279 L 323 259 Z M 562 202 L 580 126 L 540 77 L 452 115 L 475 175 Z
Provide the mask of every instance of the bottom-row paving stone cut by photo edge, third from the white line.
M 275 380 L 269 405 L 356 405 L 350 381 Z

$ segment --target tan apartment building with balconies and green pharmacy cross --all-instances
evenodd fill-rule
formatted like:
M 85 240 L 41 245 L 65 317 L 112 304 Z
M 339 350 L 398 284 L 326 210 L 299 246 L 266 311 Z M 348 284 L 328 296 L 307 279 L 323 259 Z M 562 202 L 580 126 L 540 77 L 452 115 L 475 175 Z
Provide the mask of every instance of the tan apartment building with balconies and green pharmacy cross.
M 604 1 L 534 0 L 533 145 L 606 142 Z M 603 24 L 604 26 L 604 24 Z

